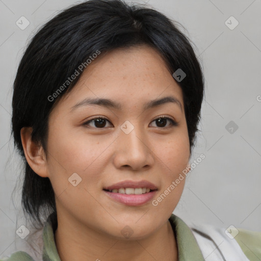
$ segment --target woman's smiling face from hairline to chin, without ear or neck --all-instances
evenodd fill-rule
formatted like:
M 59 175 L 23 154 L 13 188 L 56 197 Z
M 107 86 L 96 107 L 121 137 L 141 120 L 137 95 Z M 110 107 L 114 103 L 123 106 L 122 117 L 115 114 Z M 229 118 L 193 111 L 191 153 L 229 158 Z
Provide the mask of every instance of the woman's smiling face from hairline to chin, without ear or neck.
M 185 179 L 170 187 L 189 156 L 182 92 L 159 54 L 143 45 L 100 56 L 49 117 L 46 176 L 58 220 L 147 237 L 176 207 Z M 106 191 L 119 187 L 130 194 Z

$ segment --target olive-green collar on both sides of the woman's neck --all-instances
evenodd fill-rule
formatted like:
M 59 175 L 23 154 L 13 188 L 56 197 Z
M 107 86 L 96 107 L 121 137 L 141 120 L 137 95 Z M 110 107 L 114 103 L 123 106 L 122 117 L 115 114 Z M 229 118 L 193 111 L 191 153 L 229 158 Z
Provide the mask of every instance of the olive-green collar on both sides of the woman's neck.
M 61 261 L 55 244 L 54 231 L 57 224 L 51 223 L 50 216 L 43 228 L 43 261 Z M 196 239 L 185 222 L 174 214 L 169 218 L 169 222 L 176 236 L 178 261 L 204 261 Z

